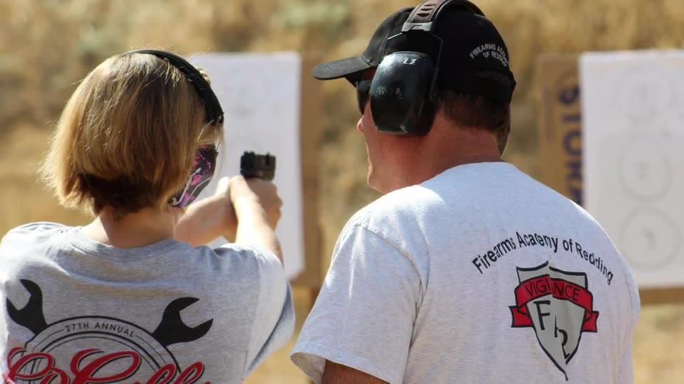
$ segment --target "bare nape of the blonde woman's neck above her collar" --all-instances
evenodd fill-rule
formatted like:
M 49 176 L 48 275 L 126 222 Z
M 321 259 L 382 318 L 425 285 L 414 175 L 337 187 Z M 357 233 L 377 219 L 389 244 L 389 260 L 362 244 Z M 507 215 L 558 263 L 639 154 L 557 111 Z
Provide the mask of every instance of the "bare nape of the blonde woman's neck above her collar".
M 145 208 L 114 218 L 111 208 L 104 208 L 92 223 L 82 229 L 87 238 L 118 248 L 145 247 L 174 238 L 177 213 Z

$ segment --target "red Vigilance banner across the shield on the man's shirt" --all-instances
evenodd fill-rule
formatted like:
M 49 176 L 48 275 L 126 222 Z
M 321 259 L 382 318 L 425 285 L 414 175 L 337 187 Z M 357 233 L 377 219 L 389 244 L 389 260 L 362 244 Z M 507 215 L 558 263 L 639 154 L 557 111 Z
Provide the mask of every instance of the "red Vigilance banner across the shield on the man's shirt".
M 515 306 L 511 306 L 514 327 L 533 326 L 527 310 L 527 303 L 539 297 L 551 295 L 559 300 L 567 300 L 585 310 L 582 331 L 596 332 L 598 311 L 594 311 L 594 296 L 586 288 L 564 279 L 554 279 L 548 274 L 526 280 L 515 289 Z

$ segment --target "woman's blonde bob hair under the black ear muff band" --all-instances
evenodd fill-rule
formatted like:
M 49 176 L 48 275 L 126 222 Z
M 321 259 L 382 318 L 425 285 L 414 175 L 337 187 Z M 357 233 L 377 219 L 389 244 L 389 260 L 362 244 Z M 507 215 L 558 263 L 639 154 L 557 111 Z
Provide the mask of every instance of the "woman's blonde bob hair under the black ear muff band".
M 121 218 L 169 207 L 199 146 L 222 127 L 207 124 L 190 81 L 155 55 L 125 53 L 98 65 L 76 88 L 41 174 L 60 203 Z

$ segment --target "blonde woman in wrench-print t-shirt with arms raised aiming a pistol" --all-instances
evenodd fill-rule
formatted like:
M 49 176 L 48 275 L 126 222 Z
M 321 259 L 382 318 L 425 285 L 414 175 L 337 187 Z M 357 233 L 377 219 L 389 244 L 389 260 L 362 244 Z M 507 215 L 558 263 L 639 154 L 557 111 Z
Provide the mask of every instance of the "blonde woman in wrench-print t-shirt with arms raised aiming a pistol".
M 95 220 L 2 240 L 4 380 L 239 383 L 286 343 L 275 186 L 222 180 L 186 208 L 212 177 L 222 115 L 202 74 L 165 51 L 115 55 L 81 82 L 42 171 Z M 201 246 L 219 235 L 235 242 Z

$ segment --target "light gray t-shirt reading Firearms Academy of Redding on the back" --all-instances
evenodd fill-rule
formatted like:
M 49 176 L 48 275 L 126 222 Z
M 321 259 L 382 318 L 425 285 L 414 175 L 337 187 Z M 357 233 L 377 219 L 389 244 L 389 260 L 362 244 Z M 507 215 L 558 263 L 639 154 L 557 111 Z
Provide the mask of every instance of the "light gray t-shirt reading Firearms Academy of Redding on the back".
M 586 211 L 467 164 L 349 220 L 292 359 L 317 383 L 326 360 L 390 383 L 631 383 L 638 314 Z

